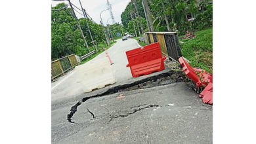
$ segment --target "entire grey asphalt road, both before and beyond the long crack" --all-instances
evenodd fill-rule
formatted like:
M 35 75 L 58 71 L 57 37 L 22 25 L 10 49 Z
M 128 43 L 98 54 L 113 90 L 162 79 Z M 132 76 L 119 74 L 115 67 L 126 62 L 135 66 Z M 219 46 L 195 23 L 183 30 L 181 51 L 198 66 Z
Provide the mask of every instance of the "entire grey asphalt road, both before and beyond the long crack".
M 52 143 L 212 143 L 212 106 L 175 79 L 179 72 L 165 67 L 131 77 L 125 51 L 137 46 L 134 39 L 117 40 L 108 50 L 116 84 L 83 94 L 75 69 L 53 82 Z

